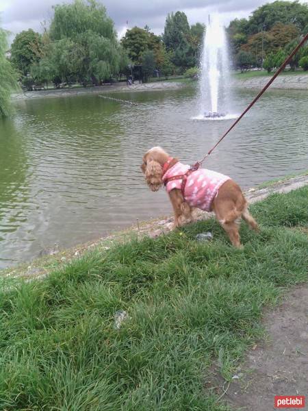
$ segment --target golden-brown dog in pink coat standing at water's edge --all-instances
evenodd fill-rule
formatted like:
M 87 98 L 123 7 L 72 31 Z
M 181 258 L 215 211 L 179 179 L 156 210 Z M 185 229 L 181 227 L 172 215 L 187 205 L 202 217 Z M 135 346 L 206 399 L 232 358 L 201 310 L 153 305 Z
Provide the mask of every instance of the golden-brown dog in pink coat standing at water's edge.
M 241 218 L 256 232 L 259 230 L 256 221 L 248 212 L 248 204 L 242 190 L 229 177 L 205 169 L 185 172 L 188 170 L 188 166 L 179 163 L 176 158 L 171 158 L 161 147 L 153 147 L 147 151 L 142 160 L 141 169 L 149 188 L 152 191 L 157 191 L 162 184 L 165 184 L 167 188 L 175 213 L 175 227 L 194 221 L 192 210 L 196 207 L 215 212 L 216 218 L 235 247 L 242 247 L 238 232 Z M 176 175 L 172 175 L 172 170 L 184 170 L 184 173 L 178 172 L 175 173 Z M 207 174 L 214 175 L 215 178 L 211 177 L 213 179 L 209 182 Z M 168 177 L 168 175 L 172 175 L 172 177 Z M 219 178 L 222 182 L 220 186 Z M 200 190 L 194 188 L 194 183 L 198 184 Z M 215 192 L 207 195 L 207 186 L 218 188 Z M 201 194 L 201 198 L 204 193 L 205 197 L 208 197 L 204 199 L 205 203 L 200 206 L 198 203 L 202 203 L 203 199 L 196 201 L 198 193 Z

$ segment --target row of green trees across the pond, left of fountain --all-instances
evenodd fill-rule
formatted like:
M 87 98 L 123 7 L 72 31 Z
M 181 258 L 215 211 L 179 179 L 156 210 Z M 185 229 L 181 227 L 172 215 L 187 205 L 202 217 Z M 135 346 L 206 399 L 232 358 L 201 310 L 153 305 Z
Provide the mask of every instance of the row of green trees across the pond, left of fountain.
M 96 0 L 55 5 L 43 34 L 28 29 L 16 35 L 11 58 L 23 86 L 55 86 L 77 82 L 101 84 L 129 74 L 129 65 L 141 65 L 145 77 L 155 70 L 181 74 L 198 64 L 205 26 L 190 26 L 183 12 L 168 14 L 164 34 L 148 26 L 133 27 L 118 41 L 114 23 Z

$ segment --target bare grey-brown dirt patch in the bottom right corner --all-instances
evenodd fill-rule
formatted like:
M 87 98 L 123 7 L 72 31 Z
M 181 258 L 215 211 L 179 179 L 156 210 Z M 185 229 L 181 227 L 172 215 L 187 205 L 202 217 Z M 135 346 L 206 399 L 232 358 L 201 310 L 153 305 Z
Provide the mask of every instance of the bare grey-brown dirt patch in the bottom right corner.
M 281 306 L 266 312 L 264 326 L 266 339 L 247 353 L 223 396 L 233 410 L 276 410 L 275 395 L 305 395 L 307 401 L 308 286 L 288 292 Z M 227 384 L 215 374 L 209 379 L 207 388 L 218 386 L 223 395 Z

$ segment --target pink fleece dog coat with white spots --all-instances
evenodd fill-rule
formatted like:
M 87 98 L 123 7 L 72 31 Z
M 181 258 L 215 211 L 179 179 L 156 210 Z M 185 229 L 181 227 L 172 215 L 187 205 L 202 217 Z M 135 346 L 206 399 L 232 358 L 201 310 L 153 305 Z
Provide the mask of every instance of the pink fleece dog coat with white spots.
M 183 175 L 190 169 L 188 164 L 177 162 L 163 176 L 163 181 L 175 175 Z M 214 200 L 220 186 L 231 179 L 227 175 L 207 169 L 198 169 L 188 175 L 183 193 L 185 201 L 191 206 L 207 212 L 211 211 L 211 202 Z M 166 184 L 167 192 L 173 188 L 181 190 L 182 179 L 175 179 Z

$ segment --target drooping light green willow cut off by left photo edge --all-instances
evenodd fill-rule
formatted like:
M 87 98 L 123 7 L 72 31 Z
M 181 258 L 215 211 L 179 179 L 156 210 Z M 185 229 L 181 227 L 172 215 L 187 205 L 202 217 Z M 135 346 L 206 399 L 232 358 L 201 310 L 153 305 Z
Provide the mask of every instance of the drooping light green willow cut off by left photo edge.
M 8 50 L 7 33 L 0 27 L 0 117 L 11 112 L 11 92 L 17 88 L 16 74 L 5 57 Z

